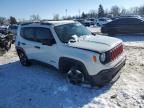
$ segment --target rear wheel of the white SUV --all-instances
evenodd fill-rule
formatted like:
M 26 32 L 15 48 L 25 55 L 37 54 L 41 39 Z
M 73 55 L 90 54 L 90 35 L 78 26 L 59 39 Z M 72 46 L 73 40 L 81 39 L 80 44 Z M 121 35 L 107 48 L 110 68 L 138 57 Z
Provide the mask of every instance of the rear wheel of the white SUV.
M 31 65 L 30 61 L 28 60 L 26 54 L 23 51 L 19 51 L 18 56 L 19 56 L 20 62 L 23 66 Z

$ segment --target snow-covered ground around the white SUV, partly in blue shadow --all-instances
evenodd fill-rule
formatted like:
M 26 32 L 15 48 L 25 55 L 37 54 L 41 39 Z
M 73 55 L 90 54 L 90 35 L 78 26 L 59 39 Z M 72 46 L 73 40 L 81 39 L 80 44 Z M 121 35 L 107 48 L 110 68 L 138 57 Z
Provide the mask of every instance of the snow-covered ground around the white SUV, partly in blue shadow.
M 0 56 L 0 108 L 143 108 L 144 40 L 124 41 L 126 66 L 103 88 L 72 85 L 47 65 L 23 67 L 13 46 Z

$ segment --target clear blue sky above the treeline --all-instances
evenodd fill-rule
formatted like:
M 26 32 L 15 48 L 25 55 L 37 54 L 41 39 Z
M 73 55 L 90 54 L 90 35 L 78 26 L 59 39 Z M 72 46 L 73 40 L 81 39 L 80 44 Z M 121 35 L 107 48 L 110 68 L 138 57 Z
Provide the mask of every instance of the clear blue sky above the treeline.
M 29 19 L 32 14 L 39 14 L 41 18 L 52 18 L 54 14 L 65 16 L 78 15 L 80 12 L 97 10 L 99 4 L 104 9 L 113 5 L 131 8 L 144 5 L 144 0 L 0 0 L 0 16 Z

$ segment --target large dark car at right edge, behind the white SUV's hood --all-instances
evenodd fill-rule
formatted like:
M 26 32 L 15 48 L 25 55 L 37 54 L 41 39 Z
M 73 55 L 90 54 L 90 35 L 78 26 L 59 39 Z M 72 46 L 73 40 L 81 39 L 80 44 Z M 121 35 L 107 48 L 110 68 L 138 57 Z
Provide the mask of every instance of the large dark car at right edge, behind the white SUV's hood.
M 144 33 L 144 19 L 137 17 L 119 18 L 103 25 L 101 32 L 110 35 Z

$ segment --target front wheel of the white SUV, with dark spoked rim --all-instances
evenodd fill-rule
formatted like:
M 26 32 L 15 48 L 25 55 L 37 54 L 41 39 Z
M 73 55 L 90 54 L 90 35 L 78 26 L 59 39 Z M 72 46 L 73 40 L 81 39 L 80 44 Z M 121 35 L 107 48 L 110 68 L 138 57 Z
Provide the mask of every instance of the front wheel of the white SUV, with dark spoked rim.
M 67 80 L 74 85 L 80 85 L 85 81 L 84 73 L 78 67 L 71 67 L 67 72 Z

